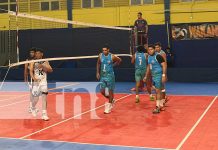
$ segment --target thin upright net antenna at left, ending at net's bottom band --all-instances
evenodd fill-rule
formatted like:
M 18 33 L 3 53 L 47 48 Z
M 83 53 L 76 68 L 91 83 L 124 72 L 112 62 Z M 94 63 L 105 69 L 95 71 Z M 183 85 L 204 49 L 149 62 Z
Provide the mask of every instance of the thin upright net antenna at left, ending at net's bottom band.
M 18 12 L 19 12 L 19 0 L 16 0 L 16 49 L 17 49 L 17 62 L 20 61 Z

